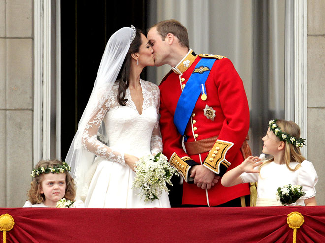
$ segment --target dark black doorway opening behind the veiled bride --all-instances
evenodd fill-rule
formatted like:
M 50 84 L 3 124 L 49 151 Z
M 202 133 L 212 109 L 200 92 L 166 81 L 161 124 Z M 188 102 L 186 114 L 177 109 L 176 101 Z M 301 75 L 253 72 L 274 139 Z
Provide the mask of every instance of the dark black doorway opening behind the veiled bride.
M 109 37 L 132 24 L 147 29 L 149 0 L 61 2 L 61 156 L 65 159 L 93 89 Z M 146 70 L 142 72 L 146 79 Z

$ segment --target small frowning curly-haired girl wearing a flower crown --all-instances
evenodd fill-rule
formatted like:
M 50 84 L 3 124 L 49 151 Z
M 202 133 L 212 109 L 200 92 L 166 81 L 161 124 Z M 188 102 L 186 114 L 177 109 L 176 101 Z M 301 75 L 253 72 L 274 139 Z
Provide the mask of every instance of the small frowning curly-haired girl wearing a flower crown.
M 29 200 L 23 207 L 84 208 L 82 201 L 73 202 L 76 192 L 69 171 L 70 166 L 59 160 L 38 162 L 31 174 L 34 179 L 27 193 Z

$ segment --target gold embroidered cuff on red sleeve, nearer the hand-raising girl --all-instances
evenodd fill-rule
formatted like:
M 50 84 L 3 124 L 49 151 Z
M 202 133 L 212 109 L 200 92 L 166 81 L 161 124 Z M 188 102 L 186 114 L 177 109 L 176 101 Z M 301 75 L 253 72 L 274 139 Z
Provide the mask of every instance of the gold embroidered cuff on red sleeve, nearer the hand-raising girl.
M 226 154 L 232 146 L 232 142 L 217 140 L 204 160 L 203 165 L 216 174 L 221 175 L 220 172 L 224 173 L 231 165 L 231 163 L 226 160 Z M 222 171 L 220 165 L 224 167 Z

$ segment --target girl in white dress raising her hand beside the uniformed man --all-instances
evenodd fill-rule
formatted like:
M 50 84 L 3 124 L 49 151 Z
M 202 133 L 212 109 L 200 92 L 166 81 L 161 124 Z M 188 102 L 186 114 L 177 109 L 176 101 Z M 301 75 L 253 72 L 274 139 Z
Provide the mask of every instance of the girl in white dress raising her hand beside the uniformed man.
M 257 182 L 256 206 L 281 206 L 276 196 L 278 187 L 300 185 L 305 195 L 295 205 L 317 205 L 315 185 L 318 177 L 313 164 L 301 155 L 300 147 L 305 145 L 305 139 L 300 138 L 299 126 L 292 121 L 271 120 L 262 140 L 263 153 L 273 157 L 265 162 L 257 156 L 248 157 L 222 177 L 222 185 Z

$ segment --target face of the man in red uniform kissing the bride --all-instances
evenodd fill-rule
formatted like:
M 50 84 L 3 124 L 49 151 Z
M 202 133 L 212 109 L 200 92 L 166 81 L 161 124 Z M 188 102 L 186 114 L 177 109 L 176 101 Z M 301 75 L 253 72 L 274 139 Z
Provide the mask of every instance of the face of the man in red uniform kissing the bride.
M 157 32 L 156 27 L 153 27 L 148 32 L 148 40 L 155 57 L 155 66 L 162 66 L 167 63 L 168 44 L 162 39 L 162 36 Z

